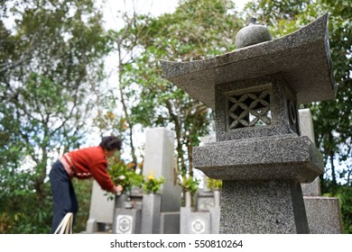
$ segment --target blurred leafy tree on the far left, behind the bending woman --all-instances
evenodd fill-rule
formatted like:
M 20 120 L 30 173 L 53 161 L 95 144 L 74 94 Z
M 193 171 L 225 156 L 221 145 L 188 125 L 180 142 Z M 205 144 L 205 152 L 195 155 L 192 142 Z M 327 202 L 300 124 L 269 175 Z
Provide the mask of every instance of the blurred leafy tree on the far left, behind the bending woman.
M 6 232 L 48 232 L 47 166 L 84 138 L 107 38 L 91 0 L 2 7 L 15 23 L 0 22 L 0 209 L 10 226 L 22 221 L 6 224 Z

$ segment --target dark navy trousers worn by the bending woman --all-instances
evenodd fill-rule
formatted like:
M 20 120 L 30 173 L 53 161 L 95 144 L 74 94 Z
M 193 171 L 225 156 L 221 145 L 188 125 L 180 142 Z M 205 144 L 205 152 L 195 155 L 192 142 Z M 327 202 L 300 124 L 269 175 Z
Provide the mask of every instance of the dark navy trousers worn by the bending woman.
M 56 161 L 51 166 L 49 177 L 54 203 L 51 233 L 54 233 L 66 213 L 72 212 L 73 220 L 75 220 L 76 213 L 79 211 L 79 202 L 77 201 L 69 175 L 60 161 Z

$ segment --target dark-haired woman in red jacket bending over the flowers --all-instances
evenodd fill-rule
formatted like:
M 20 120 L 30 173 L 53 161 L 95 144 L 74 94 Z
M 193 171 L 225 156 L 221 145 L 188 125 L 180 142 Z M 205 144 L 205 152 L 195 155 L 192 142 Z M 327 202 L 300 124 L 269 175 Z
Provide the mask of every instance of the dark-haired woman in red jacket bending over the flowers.
M 75 217 L 79 210 L 72 177 L 88 179 L 93 177 L 97 184 L 107 192 L 121 193 L 123 187 L 115 185 L 107 174 L 107 157 L 121 149 L 121 139 L 114 136 L 104 137 L 99 146 L 81 148 L 65 153 L 56 161 L 50 172 L 51 192 L 54 202 L 51 233 L 54 233 L 63 217 L 72 212 Z

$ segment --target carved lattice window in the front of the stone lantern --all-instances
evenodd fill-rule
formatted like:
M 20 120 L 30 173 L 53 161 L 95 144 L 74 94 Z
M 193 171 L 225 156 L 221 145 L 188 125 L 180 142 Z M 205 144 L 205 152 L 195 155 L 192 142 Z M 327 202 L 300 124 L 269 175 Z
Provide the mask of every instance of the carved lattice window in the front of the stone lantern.
M 268 125 L 272 121 L 270 90 L 227 96 L 228 130 Z

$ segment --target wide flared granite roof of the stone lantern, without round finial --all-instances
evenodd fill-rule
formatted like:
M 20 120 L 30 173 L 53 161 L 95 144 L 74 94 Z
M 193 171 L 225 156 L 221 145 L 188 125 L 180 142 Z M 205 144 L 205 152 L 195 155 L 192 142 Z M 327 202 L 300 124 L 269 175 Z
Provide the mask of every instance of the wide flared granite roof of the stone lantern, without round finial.
M 190 62 L 161 60 L 163 77 L 215 109 L 215 86 L 255 76 L 283 73 L 297 103 L 334 98 L 328 14 L 277 40 Z

